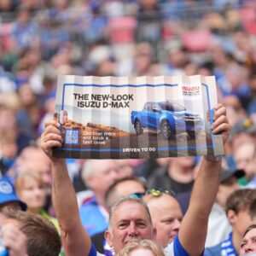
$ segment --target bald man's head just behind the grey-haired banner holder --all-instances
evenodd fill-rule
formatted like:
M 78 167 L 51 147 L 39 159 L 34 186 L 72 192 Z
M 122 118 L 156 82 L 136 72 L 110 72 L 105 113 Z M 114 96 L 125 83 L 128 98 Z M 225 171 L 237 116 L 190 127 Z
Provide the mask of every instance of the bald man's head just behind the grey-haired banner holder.
M 148 196 L 152 195 L 146 195 L 146 199 Z M 149 199 L 147 204 L 156 229 L 155 241 L 161 247 L 166 247 L 180 228 L 183 218 L 181 208 L 172 196 L 166 194 Z

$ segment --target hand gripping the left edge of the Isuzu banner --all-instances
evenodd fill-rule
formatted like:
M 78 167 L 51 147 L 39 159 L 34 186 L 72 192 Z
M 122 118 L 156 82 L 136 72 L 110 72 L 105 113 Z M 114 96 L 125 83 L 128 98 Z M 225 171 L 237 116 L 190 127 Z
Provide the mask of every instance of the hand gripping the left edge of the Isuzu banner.
M 41 148 L 50 159 L 52 159 L 52 148 L 61 147 L 62 137 L 60 128 L 61 125 L 58 121 L 50 120 L 45 123 L 45 129 L 41 135 Z

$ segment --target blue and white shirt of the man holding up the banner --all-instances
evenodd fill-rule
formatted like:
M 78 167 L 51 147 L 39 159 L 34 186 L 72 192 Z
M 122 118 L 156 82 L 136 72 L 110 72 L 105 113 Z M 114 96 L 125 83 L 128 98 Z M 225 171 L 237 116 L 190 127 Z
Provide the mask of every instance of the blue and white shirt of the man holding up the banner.
M 164 253 L 166 256 L 189 256 L 189 253 L 185 251 L 177 236 L 172 241 L 172 243 L 169 243 L 168 246 L 164 249 Z M 96 252 L 96 247 L 91 244 L 90 253 L 88 256 L 104 256 L 104 254 Z M 106 256 L 113 256 L 113 254 L 107 254 Z

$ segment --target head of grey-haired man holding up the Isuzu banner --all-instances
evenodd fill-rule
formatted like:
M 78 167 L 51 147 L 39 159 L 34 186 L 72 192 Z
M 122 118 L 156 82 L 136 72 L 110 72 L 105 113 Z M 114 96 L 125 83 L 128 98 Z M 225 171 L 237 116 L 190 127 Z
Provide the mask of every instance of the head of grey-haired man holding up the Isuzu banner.
M 105 237 L 115 253 L 132 239 L 152 239 L 153 230 L 145 208 L 136 201 L 124 201 L 113 212 Z

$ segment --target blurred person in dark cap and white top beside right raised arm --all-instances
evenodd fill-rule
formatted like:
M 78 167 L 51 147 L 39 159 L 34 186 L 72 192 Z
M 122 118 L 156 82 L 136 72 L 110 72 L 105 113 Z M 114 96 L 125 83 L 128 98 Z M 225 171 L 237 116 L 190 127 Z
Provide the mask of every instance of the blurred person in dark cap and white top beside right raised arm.
M 213 247 L 229 236 L 231 225 L 224 211 L 228 197 L 237 189 L 240 189 L 237 180 L 244 177 L 242 170 L 230 170 L 222 168 L 218 194 L 209 216 L 206 247 Z

